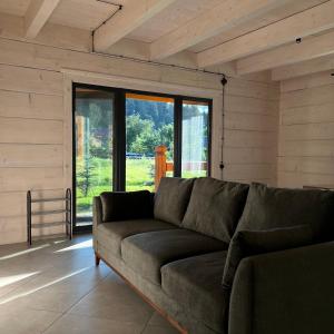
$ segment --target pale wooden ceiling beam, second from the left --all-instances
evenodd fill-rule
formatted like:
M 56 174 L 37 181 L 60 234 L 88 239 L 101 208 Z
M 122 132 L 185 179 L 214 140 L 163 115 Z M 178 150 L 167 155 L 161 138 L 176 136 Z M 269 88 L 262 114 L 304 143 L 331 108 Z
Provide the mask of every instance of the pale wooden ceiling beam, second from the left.
M 121 38 L 140 27 L 177 0 L 130 0 L 94 32 L 94 48 L 106 51 Z

